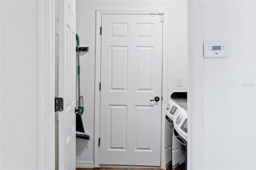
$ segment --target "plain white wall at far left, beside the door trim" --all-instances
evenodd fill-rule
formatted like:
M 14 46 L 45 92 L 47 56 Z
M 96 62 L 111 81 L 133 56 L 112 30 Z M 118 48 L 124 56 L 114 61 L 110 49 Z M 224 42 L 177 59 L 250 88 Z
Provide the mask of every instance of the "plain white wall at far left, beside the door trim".
M 37 1 L 0 3 L 0 169 L 37 169 Z

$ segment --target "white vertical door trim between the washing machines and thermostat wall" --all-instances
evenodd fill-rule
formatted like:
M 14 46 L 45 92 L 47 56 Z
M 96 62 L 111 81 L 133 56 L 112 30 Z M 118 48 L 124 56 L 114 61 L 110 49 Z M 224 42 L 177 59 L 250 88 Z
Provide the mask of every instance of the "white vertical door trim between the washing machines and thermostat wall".
M 204 1 L 188 1 L 188 169 L 204 169 Z

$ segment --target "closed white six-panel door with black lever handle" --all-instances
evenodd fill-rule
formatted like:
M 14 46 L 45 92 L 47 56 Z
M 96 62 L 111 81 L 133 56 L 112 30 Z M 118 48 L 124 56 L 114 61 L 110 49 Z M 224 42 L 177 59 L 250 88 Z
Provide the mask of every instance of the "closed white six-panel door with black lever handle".
M 100 164 L 160 166 L 160 17 L 102 15 Z

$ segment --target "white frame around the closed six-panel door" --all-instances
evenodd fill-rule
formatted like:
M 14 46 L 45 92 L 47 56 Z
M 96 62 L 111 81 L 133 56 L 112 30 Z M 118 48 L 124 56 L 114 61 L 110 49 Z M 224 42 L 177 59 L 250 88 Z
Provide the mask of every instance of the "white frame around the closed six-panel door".
M 150 15 L 162 14 L 164 16 L 163 22 L 163 44 L 162 44 L 162 122 L 164 122 L 165 105 L 168 102 L 167 95 L 167 66 L 168 66 L 168 22 L 167 11 L 159 10 L 96 10 L 96 47 L 95 47 L 95 101 L 94 101 L 94 167 L 100 167 L 100 148 L 98 146 L 98 138 L 100 138 L 100 69 L 101 69 L 101 17 L 102 15 Z M 164 136 L 164 123 L 161 125 L 161 136 Z M 164 160 L 164 140 L 161 140 L 161 169 L 165 169 Z

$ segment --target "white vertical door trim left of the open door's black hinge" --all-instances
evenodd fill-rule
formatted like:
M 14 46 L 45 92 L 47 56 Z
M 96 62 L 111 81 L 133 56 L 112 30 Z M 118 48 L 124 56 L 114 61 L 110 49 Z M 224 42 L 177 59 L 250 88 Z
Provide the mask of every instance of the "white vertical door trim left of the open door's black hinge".
M 38 1 L 38 169 L 55 169 L 55 2 Z

